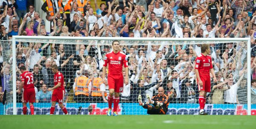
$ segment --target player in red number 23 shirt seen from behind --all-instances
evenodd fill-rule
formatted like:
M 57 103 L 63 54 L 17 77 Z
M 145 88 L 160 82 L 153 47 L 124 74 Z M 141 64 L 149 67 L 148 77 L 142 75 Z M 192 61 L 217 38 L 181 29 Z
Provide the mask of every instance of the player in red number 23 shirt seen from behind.
M 23 88 L 22 94 L 22 105 L 23 105 L 23 115 L 26 115 L 26 104 L 29 102 L 31 115 L 34 115 L 34 105 L 35 103 L 35 87 L 34 87 L 34 78 L 32 72 L 28 72 L 25 66 L 20 67 L 20 89 L 18 93 L 20 94 L 21 89 Z

